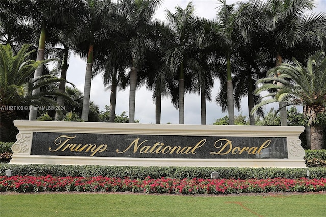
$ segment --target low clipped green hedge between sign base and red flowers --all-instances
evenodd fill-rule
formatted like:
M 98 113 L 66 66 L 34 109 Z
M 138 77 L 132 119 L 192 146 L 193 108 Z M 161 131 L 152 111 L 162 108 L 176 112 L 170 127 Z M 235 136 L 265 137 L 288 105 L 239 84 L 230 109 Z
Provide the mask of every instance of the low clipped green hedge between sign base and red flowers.
M 77 166 L 77 165 L 11 165 L 0 164 L 0 175 L 10 169 L 14 175 L 30 176 L 107 176 L 130 177 L 132 179 L 170 178 L 210 178 L 211 173 L 219 172 L 219 178 L 266 179 L 307 177 L 307 168 L 229 168 L 229 167 L 136 167 L 136 166 Z M 308 168 L 309 178 L 326 178 L 326 168 Z

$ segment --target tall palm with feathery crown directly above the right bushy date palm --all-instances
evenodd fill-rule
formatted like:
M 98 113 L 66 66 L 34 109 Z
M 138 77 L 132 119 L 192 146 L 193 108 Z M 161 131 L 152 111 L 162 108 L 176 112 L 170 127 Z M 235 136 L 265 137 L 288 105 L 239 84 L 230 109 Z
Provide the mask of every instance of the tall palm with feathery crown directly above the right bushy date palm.
M 306 11 L 315 6 L 313 0 L 269 0 L 261 12 L 264 15 L 263 23 L 269 35 L 269 40 L 274 43 L 276 65 L 280 65 L 286 53 L 294 49 L 298 56 L 298 46 L 304 56 L 311 55 L 313 51 L 321 49 L 325 40 L 326 14 L 306 15 Z M 293 56 L 290 53 L 290 56 Z M 276 75 L 278 76 L 278 75 Z M 286 108 L 280 104 L 281 125 L 287 125 Z

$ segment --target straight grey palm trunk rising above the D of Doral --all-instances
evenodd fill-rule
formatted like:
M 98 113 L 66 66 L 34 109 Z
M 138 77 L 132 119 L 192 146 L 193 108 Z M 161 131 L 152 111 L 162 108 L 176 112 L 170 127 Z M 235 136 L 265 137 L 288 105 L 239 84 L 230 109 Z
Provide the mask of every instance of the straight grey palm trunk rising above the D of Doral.
M 228 104 L 228 112 L 229 112 L 229 125 L 234 125 L 234 96 L 233 96 L 230 56 L 227 56 L 226 67 L 227 67 L 226 91 L 227 91 L 227 104 Z

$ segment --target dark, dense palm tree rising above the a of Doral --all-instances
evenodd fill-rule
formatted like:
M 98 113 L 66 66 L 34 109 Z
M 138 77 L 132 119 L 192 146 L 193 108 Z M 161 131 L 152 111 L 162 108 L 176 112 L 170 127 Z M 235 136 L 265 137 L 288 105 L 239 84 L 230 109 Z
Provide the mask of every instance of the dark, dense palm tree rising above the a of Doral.
M 274 67 L 271 63 L 270 46 L 266 43 L 268 35 L 265 31 L 264 2 L 260 0 L 250 0 L 249 2 L 238 2 L 238 8 L 234 22 L 238 28 L 237 37 L 241 38 L 237 45 L 234 61 L 234 103 L 235 107 L 241 109 L 241 98 L 248 97 L 248 111 L 261 101 L 260 96 L 253 94 L 257 88 L 257 79 L 265 77 L 268 69 Z M 261 108 L 257 110 L 257 115 L 263 117 Z M 249 113 L 250 125 L 255 125 L 255 114 Z

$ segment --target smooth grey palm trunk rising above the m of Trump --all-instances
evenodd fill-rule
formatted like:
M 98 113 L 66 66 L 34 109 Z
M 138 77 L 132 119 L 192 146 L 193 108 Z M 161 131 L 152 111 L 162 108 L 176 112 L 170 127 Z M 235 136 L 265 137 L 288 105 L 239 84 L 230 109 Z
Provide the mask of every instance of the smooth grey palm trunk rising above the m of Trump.
M 92 80 L 92 66 L 93 66 L 93 44 L 89 46 L 86 71 L 85 71 L 85 83 L 84 83 L 84 97 L 83 97 L 83 110 L 82 119 L 88 121 L 88 112 L 90 106 L 91 95 L 91 80 Z

